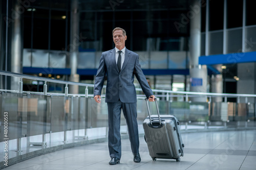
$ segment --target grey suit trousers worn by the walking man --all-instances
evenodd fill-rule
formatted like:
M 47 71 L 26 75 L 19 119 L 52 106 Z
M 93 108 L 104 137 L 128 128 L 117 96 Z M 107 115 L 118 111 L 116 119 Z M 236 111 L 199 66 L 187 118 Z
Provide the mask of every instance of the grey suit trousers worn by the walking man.
M 123 110 L 129 132 L 133 154 L 139 153 L 139 132 L 137 123 L 137 103 L 108 103 L 109 112 L 109 152 L 111 159 L 121 158 L 120 116 Z

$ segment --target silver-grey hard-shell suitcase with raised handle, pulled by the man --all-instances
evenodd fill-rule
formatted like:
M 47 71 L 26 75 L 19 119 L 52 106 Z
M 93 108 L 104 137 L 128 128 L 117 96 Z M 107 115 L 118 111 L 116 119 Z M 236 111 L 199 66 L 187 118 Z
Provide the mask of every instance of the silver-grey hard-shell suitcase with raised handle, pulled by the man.
M 179 122 L 173 115 L 160 115 L 156 101 L 157 115 L 151 115 L 146 99 L 148 116 L 143 121 L 145 141 L 153 160 L 156 158 L 176 159 L 184 156 Z

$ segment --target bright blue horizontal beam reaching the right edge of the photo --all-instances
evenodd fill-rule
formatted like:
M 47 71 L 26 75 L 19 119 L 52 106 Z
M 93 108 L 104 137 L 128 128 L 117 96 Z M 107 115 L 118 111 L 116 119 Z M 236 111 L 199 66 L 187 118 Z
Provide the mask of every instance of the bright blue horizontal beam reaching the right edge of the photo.
M 256 52 L 232 53 L 199 57 L 199 64 L 234 64 L 256 62 Z

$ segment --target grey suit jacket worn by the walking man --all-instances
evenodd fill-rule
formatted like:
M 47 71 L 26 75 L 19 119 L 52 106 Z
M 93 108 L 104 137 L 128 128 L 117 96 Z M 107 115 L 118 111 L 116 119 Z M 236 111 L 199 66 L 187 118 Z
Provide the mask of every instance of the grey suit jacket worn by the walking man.
M 139 55 L 127 50 L 127 48 L 120 73 L 116 64 L 115 48 L 102 53 L 94 84 L 94 96 L 101 95 L 105 75 L 107 76 L 106 103 L 117 102 L 119 99 L 123 103 L 136 103 L 137 96 L 134 86 L 134 75 L 146 97 L 153 95 L 140 68 Z

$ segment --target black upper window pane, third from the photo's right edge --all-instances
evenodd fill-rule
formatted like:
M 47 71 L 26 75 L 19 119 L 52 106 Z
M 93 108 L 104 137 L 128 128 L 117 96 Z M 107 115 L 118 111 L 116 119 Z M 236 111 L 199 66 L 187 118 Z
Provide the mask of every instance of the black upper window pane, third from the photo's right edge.
M 209 31 L 223 29 L 224 0 L 209 1 Z

